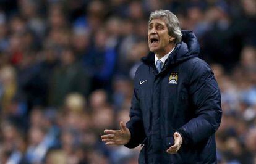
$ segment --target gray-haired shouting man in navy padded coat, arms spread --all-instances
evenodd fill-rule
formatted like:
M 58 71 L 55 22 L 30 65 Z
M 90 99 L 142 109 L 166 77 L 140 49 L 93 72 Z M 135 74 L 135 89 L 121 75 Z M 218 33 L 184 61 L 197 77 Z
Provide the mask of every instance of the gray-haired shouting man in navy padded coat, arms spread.
M 221 97 L 210 67 L 198 58 L 192 31 L 169 10 L 150 14 L 148 46 L 134 80 L 130 120 L 105 130 L 106 145 L 142 144 L 139 163 L 216 163 Z

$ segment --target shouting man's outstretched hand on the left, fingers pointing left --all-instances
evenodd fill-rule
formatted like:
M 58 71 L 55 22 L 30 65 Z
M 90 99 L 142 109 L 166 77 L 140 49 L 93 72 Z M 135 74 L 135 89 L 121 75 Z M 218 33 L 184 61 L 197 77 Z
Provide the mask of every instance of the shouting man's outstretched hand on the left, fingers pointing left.
M 101 140 L 106 145 L 125 145 L 130 141 L 130 131 L 122 121 L 120 122 L 120 130 L 105 130 L 106 135 L 101 136 Z

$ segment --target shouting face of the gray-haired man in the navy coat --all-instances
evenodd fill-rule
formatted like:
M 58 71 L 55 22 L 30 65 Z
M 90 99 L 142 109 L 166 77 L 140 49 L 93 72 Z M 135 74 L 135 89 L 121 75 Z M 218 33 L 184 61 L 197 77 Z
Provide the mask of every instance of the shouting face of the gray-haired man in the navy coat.
M 151 52 L 167 54 L 169 42 L 173 39 L 172 36 L 168 35 L 168 27 L 163 19 L 156 18 L 148 24 L 148 47 Z

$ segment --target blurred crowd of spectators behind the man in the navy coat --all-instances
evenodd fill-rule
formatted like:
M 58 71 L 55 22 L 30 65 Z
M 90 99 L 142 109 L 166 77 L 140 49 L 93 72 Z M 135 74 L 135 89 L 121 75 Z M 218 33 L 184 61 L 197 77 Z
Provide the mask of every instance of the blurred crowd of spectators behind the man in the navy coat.
M 140 146 L 100 136 L 129 120 L 158 9 L 194 31 L 215 72 L 218 162 L 256 163 L 255 0 L 0 0 L 0 163 L 137 163 Z

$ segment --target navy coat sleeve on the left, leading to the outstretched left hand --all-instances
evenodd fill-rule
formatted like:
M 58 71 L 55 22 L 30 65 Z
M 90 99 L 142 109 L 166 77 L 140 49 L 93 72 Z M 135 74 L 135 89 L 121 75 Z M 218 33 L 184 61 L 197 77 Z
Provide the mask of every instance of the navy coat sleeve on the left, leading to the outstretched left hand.
M 142 112 L 139 105 L 136 89 L 132 97 L 132 106 L 130 107 L 130 120 L 127 122 L 126 127 L 129 129 L 131 137 L 130 141 L 124 145 L 128 148 L 137 147 L 145 139 L 145 131 L 142 120 Z

